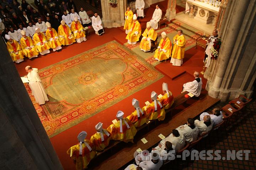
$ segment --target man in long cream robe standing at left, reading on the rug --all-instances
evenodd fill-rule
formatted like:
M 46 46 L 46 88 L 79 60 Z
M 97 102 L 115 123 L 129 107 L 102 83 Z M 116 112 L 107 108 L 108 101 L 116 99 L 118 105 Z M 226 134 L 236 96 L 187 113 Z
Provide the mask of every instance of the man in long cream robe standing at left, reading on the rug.
M 27 66 L 25 68 L 25 70 L 26 70 L 26 72 L 28 72 L 28 75 L 24 76 L 24 77 L 27 77 L 28 81 L 30 81 L 28 83 L 28 86 L 30 87 L 30 89 L 32 91 L 32 95 L 36 99 L 36 102 L 38 104 L 45 104 L 45 102 L 49 101 L 49 99 L 44 90 L 42 81 L 39 77 L 38 69 Z

